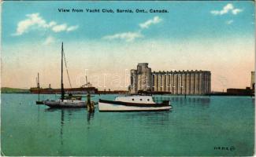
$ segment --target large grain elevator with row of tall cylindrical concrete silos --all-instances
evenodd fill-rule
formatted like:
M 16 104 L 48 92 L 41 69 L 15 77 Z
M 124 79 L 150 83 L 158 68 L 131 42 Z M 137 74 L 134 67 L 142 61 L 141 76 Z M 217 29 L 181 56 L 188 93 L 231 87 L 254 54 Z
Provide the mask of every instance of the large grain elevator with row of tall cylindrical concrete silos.
M 138 91 L 203 95 L 211 91 L 210 71 L 153 71 L 147 63 L 131 70 L 131 93 Z

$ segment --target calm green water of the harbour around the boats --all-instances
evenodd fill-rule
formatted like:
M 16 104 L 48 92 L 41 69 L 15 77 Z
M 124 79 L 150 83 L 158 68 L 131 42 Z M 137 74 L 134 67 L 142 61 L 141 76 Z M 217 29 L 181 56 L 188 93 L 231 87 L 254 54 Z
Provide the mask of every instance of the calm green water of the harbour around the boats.
M 254 99 L 177 97 L 173 111 L 50 109 L 37 95 L 2 94 L 4 155 L 252 155 Z M 43 99 L 55 99 L 43 95 Z M 113 100 L 115 95 L 102 95 Z M 98 100 L 98 96 L 93 97 Z M 219 150 L 218 147 L 228 148 Z M 214 149 L 215 148 L 215 149 Z M 232 150 L 230 150 L 232 148 Z

